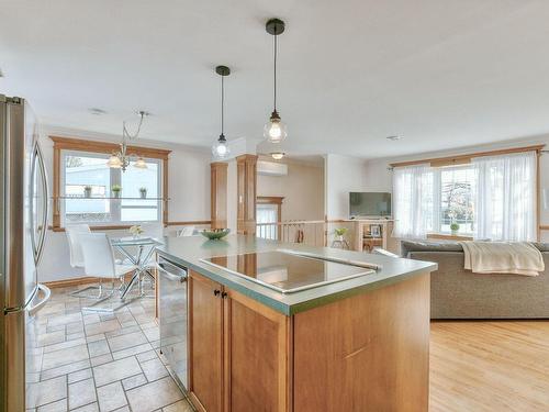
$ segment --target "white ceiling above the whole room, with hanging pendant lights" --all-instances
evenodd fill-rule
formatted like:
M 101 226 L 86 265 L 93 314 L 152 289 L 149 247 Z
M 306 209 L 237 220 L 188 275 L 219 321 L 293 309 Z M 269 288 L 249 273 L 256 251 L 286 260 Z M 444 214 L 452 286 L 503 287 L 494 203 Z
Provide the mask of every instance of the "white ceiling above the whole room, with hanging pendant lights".
M 271 16 L 287 22 L 289 153 L 396 156 L 549 132 L 546 0 L 2 0 L 0 93 L 30 99 L 46 124 L 103 133 L 145 109 L 144 137 L 209 146 L 213 68 L 226 64 L 225 134 L 259 138 Z

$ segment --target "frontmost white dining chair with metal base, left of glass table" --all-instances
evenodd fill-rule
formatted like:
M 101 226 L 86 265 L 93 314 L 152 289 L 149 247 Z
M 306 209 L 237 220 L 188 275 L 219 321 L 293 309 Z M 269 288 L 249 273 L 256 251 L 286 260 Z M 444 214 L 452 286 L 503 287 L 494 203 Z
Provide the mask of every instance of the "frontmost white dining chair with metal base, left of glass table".
M 111 298 L 119 288 L 114 287 L 115 279 L 137 269 L 135 265 L 116 264 L 114 253 L 109 237 L 105 233 L 81 233 L 79 234 L 83 255 L 83 269 L 86 276 L 99 279 L 99 293 L 94 297 L 98 302 L 92 307 Z M 111 289 L 103 293 L 103 279 L 111 279 Z M 85 308 L 93 311 L 112 311 L 113 309 Z

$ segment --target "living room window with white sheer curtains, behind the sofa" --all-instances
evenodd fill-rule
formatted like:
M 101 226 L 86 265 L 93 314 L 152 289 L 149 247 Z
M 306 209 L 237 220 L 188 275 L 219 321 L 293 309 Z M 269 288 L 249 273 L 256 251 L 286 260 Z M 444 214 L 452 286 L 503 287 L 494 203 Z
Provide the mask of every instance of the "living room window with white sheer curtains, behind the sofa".
M 394 168 L 396 237 L 451 233 L 493 241 L 537 238 L 537 152 L 468 160 L 459 166 L 425 163 Z M 458 229 L 452 231 L 452 224 Z

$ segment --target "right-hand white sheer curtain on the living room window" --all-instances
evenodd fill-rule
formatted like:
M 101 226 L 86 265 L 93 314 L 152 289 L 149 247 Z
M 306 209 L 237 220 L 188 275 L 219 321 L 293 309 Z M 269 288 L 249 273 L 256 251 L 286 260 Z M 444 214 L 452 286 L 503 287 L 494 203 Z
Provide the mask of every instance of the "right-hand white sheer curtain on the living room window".
M 535 241 L 537 154 L 472 159 L 477 170 L 474 238 Z

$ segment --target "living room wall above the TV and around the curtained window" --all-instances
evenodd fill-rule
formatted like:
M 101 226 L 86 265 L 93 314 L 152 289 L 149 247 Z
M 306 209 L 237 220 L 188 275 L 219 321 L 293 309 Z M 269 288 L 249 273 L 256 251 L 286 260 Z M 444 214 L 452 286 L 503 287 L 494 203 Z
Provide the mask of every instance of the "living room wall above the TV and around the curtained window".
M 509 148 L 509 147 L 529 146 L 536 144 L 546 144 L 547 149 L 549 149 L 549 135 L 541 135 L 529 138 L 517 138 L 513 141 L 497 142 L 490 145 L 468 146 L 462 148 L 456 148 L 452 151 L 421 153 L 413 156 L 367 160 L 363 167 L 363 177 L 362 177 L 363 190 L 391 192 L 393 182 L 392 182 L 392 171 L 389 170 L 389 165 L 392 163 L 418 160 L 433 157 L 455 156 L 460 154 Z M 540 172 L 539 172 L 540 188 L 549 190 L 549 154 L 545 154 L 541 156 L 539 166 L 540 166 Z M 540 197 L 541 196 L 542 193 L 540 193 Z M 539 199 L 539 201 L 541 202 L 539 224 L 549 225 L 549 210 L 544 210 L 542 199 Z M 549 242 L 549 231 L 541 231 L 541 241 Z

